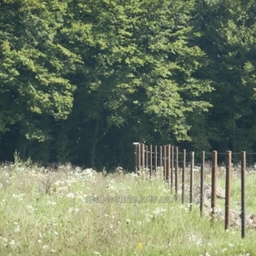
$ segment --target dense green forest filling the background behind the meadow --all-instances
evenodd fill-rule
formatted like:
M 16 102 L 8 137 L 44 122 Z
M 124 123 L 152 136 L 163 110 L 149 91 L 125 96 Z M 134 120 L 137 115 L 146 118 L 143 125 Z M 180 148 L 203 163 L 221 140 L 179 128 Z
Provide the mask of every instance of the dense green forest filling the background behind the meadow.
M 131 168 L 134 142 L 256 151 L 254 0 L 1 0 L 0 160 Z

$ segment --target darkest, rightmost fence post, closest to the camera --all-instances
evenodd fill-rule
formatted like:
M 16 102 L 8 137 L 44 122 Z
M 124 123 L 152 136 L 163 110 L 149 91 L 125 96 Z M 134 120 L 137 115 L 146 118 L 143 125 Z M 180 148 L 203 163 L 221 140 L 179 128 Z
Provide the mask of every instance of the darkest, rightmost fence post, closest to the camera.
M 241 238 L 246 235 L 246 209 L 245 209 L 245 172 L 246 151 L 241 152 Z

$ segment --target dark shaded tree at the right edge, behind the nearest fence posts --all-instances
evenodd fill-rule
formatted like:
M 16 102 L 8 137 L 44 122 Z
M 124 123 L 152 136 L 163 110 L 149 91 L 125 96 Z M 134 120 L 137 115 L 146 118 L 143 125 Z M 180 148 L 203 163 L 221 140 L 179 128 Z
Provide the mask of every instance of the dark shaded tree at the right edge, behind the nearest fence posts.
M 208 116 L 212 148 L 252 150 L 255 140 L 255 3 L 201 1 L 195 9 L 196 41 L 206 52 L 205 76 L 214 91 Z

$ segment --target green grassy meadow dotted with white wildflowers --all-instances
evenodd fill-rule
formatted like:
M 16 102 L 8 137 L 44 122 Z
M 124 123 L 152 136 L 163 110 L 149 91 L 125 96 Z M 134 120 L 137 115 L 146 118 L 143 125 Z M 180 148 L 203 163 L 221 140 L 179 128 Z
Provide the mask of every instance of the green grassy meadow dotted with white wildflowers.
M 218 182 L 224 188 L 221 173 Z M 247 212 L 254 214 L 255 182 L 247 173 Z M 232 209 L 240 210 L 239 172 L 231 195 Z M 241 239 L 238 226 L 224 231 L 223 221 L 201 218 L 197 204 L 190 211 L 174 199 L 161 177 L 2 166 L 0 255 L 256 255 L 255 229 Z

